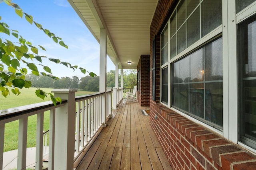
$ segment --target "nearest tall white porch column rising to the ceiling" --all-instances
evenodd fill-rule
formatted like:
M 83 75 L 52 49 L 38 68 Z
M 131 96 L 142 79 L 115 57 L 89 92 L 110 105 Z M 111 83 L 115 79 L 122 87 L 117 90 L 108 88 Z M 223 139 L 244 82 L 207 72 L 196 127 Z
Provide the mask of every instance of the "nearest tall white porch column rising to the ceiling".
M 102 123 L 106 125 L 106 75 L 107 75 L 107 34 L 106 29 L 100 29 L 100 92 L 105 92 L 102 97 Z

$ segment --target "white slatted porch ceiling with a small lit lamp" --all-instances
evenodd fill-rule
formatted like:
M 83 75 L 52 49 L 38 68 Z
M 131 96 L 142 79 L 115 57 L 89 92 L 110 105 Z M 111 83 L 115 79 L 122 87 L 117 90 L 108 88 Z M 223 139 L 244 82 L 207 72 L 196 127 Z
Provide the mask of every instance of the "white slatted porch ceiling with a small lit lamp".
M 150 54 L 150 23 L 158 0 L 68 0 L 92 35 L 108 35 L 107 53 L 119 69 L 137 69 L 140 55 Z M 132 64 L 128 65 L 127 62 Z

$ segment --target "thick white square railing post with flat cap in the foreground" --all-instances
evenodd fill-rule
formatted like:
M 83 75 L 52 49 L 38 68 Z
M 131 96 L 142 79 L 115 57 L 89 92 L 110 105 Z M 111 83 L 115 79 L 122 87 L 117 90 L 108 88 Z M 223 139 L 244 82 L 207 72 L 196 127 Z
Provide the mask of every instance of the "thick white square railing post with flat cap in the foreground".
M 74 166 L 77 90 L 55 89 L 52 92 L 55 97 L 68 100 L 64 106 L 56 108 L 54 169 L 70 170 Z

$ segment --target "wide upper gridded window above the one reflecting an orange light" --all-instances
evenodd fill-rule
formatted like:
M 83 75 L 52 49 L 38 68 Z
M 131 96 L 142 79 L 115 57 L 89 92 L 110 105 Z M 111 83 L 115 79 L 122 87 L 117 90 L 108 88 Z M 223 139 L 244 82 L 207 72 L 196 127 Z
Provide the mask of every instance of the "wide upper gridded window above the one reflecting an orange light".
M 170 18 L 171 59 L 222 24 L 221 4 L 221 0 L 180 1 Z

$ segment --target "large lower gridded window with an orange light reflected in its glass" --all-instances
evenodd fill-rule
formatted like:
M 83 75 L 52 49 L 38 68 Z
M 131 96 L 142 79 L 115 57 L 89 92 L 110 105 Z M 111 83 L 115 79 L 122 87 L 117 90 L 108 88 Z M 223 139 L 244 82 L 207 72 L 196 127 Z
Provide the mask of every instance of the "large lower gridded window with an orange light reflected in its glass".
M 222 127 L 222 38 L 172 64 L 172 107 Z

